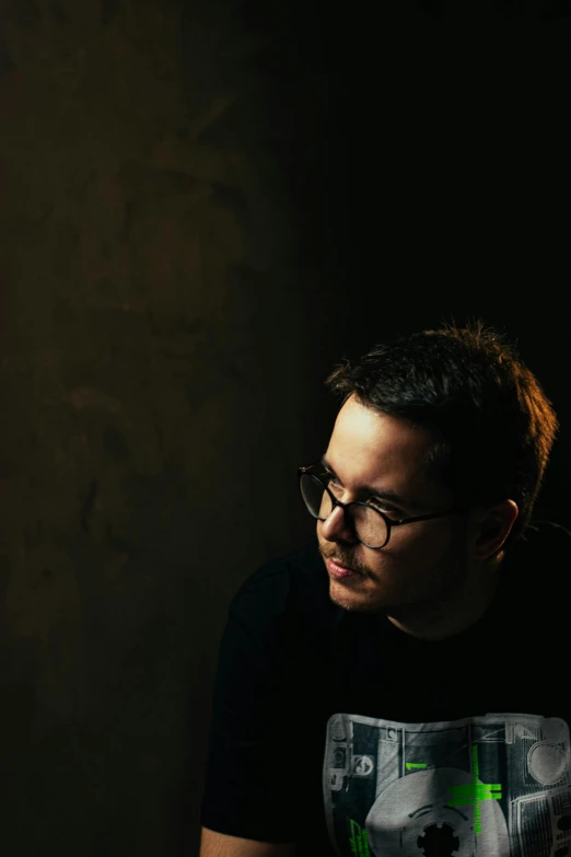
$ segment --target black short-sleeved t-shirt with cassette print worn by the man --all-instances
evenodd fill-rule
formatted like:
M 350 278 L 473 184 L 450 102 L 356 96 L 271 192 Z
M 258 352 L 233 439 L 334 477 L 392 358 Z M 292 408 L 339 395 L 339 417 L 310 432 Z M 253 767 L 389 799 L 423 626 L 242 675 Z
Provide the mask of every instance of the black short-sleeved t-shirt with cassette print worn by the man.
M 441 641 L 329 599 L 317 540 L 234 595 L 200 823 L 300 857 L 571 855 L 570 534 L 528 528 Z

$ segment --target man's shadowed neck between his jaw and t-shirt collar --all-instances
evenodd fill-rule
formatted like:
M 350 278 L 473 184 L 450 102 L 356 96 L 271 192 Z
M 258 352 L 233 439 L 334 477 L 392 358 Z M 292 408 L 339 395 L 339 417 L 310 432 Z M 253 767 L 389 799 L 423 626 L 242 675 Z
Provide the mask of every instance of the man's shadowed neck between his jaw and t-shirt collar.
M 478 574 L 466 575 L 452 591 L 438 599 L 391 611 L 389 622 L 412 637 L 442 640 L 475 625 L 486 613 L 498 589 L 503 556 L 489 560 Z

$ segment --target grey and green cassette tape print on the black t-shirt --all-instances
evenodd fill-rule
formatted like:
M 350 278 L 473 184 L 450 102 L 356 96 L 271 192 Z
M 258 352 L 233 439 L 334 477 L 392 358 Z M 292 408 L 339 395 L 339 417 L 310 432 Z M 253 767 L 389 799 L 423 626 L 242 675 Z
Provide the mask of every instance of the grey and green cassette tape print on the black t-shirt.
M 571 857 L 569 727 L 558 717 L 336 714 L 323 787 L 340 857 Z

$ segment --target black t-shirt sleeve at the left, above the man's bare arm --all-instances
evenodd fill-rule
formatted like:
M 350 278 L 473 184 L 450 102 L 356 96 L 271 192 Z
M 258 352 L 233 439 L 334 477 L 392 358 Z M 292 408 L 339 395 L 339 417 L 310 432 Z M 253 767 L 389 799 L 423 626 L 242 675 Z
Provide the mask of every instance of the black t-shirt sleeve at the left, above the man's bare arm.
M 200 813 L 210 830 L 270 843 L 298 842 L 295 808 L 303 807 L 287 597 L 284 576 L 269 575 L 230 604 Z

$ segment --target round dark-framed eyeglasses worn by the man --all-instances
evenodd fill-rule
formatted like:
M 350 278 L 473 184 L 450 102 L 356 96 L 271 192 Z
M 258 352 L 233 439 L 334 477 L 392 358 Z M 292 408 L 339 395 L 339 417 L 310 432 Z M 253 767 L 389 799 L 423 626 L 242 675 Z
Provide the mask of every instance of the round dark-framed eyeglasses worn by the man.
M 331 478 L 329 473 L 313 471 L 318 465 L 310 464 L 308 467 L 300 467 L 298 476 L 300 479 L 300 491 L 307 511 L 312 518 L 318 521 L 326 521 L 336 506 L 343 510 L 346 520 L 349 522 L 351 531 L 356 538 L 373 551 L 380 551 L 388 544 L 393 526 L 401 526 L 417 521 L 431 521 L 435 518 L 444 518 L 446 514 L 455 514 L 465 511 L 464 508 L 447 509 L 444 512 L 433 512 L 431 514 L 420 514 L 416 518 L 403 518 L 399 521 L 393 521 L 380 509 L 371 503 L 353 500 L 351 502 L 341 502 L 334 496 L 327 483 Z

